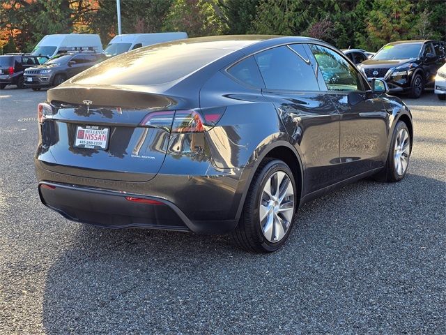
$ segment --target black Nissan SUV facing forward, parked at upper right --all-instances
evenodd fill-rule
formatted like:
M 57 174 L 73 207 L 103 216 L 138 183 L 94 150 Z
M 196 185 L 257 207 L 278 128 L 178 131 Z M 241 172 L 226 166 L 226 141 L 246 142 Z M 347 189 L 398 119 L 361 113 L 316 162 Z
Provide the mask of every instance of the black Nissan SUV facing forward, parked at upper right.
M 359 68 L 369 80 L 384 79 L 391 93 L 419 98 L 433 84 L 438 68 L 446 63 L 445 43 L 438 40 L 402 40 L 384 45 Z

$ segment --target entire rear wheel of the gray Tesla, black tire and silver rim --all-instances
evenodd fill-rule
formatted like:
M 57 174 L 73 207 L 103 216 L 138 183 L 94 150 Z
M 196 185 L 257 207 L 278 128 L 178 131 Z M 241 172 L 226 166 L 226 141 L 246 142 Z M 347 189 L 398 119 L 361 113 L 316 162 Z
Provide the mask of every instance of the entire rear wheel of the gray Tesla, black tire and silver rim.
M 277 159 L 263 161 L 233 232 L 236 244 L 256 253 L 276 251 L 289 237 L 296 207 L 295 181 L 289 166 Z

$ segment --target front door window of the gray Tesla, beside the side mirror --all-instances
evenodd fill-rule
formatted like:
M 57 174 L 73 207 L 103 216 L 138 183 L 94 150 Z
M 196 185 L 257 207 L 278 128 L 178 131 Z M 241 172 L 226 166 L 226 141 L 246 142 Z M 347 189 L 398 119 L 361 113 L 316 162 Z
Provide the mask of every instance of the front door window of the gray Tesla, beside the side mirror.
M 328 91 L 362 91 L 360 74 L 340 54 L 322 47 L 309 45 L 321 69 Z

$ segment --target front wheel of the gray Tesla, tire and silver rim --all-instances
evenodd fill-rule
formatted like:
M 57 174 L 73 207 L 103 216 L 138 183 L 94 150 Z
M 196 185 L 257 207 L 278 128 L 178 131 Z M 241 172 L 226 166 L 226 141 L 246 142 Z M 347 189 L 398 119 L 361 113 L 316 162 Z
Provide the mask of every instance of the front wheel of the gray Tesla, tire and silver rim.
M 378 181 L 394 183 L 406 176 L 411 151 L 410 133 L 403 121 L 398 121 L 392 134 L 387 161 L 381 172 L 375 175 Z

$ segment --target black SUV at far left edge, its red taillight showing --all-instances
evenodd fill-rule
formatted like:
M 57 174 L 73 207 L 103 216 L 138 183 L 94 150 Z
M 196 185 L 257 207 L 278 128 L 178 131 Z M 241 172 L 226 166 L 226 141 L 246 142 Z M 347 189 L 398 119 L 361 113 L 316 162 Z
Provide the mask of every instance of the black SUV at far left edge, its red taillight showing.
M 45 56 L 31 56 L 29 54 L 5 54 L 0 56 L 0 89 L 6 85 L 17 85 L 24 88 L 23 72 L 26 68 L 47 61 Z

